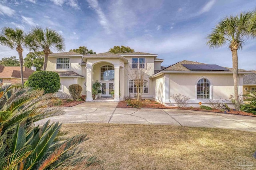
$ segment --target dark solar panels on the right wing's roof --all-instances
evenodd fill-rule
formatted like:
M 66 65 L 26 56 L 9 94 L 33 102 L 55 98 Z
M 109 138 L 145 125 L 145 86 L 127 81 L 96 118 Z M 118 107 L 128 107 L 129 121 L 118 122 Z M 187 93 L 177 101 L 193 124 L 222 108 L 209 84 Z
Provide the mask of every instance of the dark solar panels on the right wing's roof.
M 215 70 L 215 71 L 229 71 L 227 68 L 218 66 L 216 64 L 182 64 L 189 70 Z

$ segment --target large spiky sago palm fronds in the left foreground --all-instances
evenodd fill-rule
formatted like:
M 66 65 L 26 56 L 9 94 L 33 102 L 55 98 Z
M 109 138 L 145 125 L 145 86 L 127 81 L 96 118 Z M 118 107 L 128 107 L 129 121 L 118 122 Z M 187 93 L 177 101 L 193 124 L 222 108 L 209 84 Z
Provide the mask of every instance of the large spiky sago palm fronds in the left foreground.
M 86 134 L 64 137 L 60 123 L 34 122 L 63 112 L 46 107 L 52 94 L 30 88 L 0 88 L 0 169 L 94 169 L 100 161 L 77 147 Z

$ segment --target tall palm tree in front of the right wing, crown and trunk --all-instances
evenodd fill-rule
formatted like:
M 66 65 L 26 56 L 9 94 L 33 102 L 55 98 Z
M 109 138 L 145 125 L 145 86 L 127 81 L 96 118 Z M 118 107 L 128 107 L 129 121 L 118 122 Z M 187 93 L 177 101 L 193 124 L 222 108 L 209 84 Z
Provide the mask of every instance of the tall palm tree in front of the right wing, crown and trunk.
M 237 16 L 229 16 L 222 19 L 207 37 L 207 45 L 211 49 L 228 45 L 232 52 L 233 78 L 235 107 L 239 110 L 238 102 L 238 49 L 242 49 L 246 40 L 252 35 L 252 27 L 255 23 L 251 22 L 253 12 L 241 13 Z

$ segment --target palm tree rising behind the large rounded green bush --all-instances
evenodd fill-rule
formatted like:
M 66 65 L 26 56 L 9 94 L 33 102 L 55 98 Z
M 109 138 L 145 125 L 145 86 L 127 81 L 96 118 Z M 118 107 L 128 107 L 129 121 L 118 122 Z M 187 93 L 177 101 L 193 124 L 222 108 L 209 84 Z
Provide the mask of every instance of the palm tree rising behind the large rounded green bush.
M 43 70 L 46 70 L 48 57 L 51 53 L 51 48 L 54 50 L 61 52 L 65 49 L 65 43 L 62 35 L 57 31 L 50 28 L 41 28 L 41 27 L 33 27 L 29 33 L 29 41 L 28 44 L 36 44 L 36 49 L 40 49 L 40 51 L 44 51 L 44 67 Z M 33 42 L 33 43 L 31 43 Z

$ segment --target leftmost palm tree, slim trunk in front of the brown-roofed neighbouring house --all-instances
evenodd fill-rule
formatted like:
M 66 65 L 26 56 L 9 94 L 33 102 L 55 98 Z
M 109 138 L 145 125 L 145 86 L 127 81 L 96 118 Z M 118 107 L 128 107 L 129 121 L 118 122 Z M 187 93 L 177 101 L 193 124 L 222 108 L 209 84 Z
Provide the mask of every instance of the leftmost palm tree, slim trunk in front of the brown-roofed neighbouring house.
M 3 27 L 0 32 L 0 45 L 9 47 L 10 49 L 16 49 L 18 51 L 20 60 L 20 78 L 21 84 L 24 85 L 23 80 L 23 48 L 27 47 L 25 40 L 27 34 L 20 28 Z

